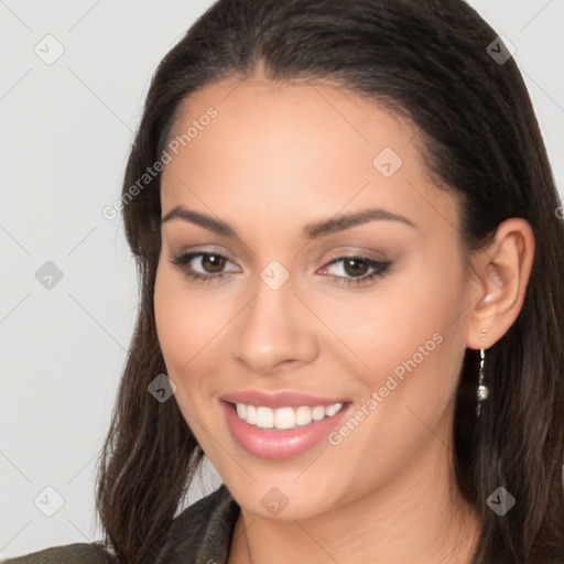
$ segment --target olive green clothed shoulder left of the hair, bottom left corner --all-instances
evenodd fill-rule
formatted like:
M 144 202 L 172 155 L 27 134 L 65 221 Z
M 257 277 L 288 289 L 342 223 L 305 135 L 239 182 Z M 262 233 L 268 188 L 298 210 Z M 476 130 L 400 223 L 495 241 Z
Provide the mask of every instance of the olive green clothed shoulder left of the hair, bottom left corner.
M 112 564 L 116 560 L 100 544 L 75 543 L 3 560 L 0 564 L 75 564 L 77 562 L 80 564 Z

